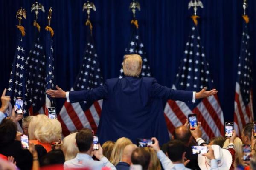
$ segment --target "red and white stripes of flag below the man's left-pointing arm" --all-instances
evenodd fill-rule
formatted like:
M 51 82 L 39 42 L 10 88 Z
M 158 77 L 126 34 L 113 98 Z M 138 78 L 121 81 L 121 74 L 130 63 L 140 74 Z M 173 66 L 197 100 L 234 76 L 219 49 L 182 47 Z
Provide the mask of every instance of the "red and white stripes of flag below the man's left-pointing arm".
M 71 91 L 73 91 L 73 88 Z M 87 111 L 83 111 L 79 103 L 69 103 L 66 101 L 58 115 L 63 135 L 67 136 L 70 132 L 84 127 L 96 132 L 101 111 L 102 100 L 94 102 Z

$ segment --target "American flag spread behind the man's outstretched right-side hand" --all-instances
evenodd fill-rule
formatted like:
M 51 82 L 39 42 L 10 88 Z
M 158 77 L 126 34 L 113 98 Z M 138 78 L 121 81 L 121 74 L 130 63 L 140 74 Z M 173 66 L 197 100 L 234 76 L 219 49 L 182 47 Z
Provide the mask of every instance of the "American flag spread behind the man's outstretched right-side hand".
M 205 57 L 204 48 L 200 42 L 198 27 L 193 24 L 186 43 L 184 57 L 181 60 L 179 71 L 173 89 L 186 91 L 201 91 L 206 87 L 214 88 L 210 77 L 209 63 Z M 164 109 L 164 116 L 170 135 L 175 127 L 186 122 L 188 114 L 196 114 L 198 122 L 202 123 L 203 137 L 206 140 L 224 134 L 224 118 L 217 95 L 205 99 L 197 99 L 195 103 L 185 103 L 168 100 Z

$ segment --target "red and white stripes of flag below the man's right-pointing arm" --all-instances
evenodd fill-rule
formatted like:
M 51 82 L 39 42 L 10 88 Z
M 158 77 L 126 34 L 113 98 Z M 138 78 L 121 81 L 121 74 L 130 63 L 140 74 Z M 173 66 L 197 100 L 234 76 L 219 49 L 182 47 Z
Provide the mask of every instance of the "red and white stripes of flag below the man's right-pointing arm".
M 172 88 L 176 89 L 175 85 Z M 186 122 L 189 114 L 197 114 L 205 140 L 209 141 L 212 137 L 224 134 L 224 117 L 217 95 L 203 99 L 193 110 L 190 110 L 185 102 L 168 100 L 164 116 L 170 135 L 176 127 Z

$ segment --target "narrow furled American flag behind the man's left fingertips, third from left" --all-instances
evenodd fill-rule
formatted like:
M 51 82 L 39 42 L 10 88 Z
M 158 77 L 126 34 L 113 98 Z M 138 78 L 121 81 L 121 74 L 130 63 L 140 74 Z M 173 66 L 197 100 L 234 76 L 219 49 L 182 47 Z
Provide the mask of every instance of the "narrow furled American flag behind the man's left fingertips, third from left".
M 48 29 L 47 29 L 48 28 Z M 52 48 L 52 28 L 47 26 L 46 30 L 46 89 L 54 88 L 54 65 L 53 65 L 53 48 Z M 53 32 L 53 31 L 52 31 Z M 49 95 L 46 94 L 45 97 L 45 113 L 48 113 L 49 107 L 54 107 L 55 101 Z

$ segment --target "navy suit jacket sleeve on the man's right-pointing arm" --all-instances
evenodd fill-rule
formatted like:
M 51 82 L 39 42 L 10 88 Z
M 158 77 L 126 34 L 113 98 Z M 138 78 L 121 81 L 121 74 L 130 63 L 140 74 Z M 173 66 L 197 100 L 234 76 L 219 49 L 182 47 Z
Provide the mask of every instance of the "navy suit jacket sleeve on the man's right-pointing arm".
M 151 96 L 164 100 L 172 99 L 180 100 L 182 102 L 192 102 L 193 92 L 167 88 L 158 84 L 156 79 L 154 79 L 151 85 Z

